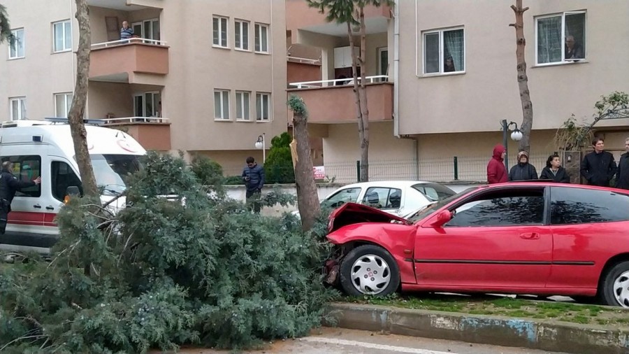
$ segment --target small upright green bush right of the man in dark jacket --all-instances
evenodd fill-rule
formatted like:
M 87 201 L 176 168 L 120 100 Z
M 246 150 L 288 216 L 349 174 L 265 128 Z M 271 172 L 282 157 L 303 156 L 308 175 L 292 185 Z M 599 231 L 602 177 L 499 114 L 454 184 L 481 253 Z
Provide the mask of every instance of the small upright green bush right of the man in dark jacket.
M 295 183 L 295 170 L 291 156 L 292 137 L 287 132 L 271 139 L 271 148 L 264 162 L 266 183 Z

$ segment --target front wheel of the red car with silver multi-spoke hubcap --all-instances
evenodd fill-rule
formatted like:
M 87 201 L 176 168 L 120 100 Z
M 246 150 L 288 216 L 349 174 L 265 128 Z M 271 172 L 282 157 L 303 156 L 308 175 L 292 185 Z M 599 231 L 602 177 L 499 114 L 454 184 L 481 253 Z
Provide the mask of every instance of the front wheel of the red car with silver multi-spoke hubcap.
M 347 295 L 386 296 L 398 290 L 398 264 L 384 248 L 363 245 L 349 251 L 340 264 L 340 284 Z

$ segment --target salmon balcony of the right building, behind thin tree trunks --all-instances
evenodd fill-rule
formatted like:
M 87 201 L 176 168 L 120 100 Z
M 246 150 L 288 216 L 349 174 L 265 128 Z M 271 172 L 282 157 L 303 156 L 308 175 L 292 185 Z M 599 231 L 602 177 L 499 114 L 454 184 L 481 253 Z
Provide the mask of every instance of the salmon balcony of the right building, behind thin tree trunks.
M 370 122 L 393 119 L 393 83 L 387 76 L 367 76 L 367 105 Z M 352 79 L 290 83 L 287 94 L 303 98 L 308 122 L 319 124 L 356 122 L 356 98 Z

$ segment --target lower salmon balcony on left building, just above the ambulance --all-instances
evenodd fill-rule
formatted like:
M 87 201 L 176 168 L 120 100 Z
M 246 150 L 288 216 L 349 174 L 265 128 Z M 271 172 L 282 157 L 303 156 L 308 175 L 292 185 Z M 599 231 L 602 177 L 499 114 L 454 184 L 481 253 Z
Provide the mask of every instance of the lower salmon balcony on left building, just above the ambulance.
M 146 150 L 171 150 L 171 122 L 167 118 L 125 117 L 104 121 L 105 127 L 126 132 Z

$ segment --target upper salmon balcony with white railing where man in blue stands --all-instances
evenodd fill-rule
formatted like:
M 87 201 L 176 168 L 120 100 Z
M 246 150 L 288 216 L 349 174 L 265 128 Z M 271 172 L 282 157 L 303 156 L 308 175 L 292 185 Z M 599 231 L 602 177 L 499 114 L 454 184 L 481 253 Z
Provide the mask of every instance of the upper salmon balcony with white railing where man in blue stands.
M 164 41 L 131 38 L 92 44 L 89 80 L 164 85 L 167 73 L 168 46 Z

